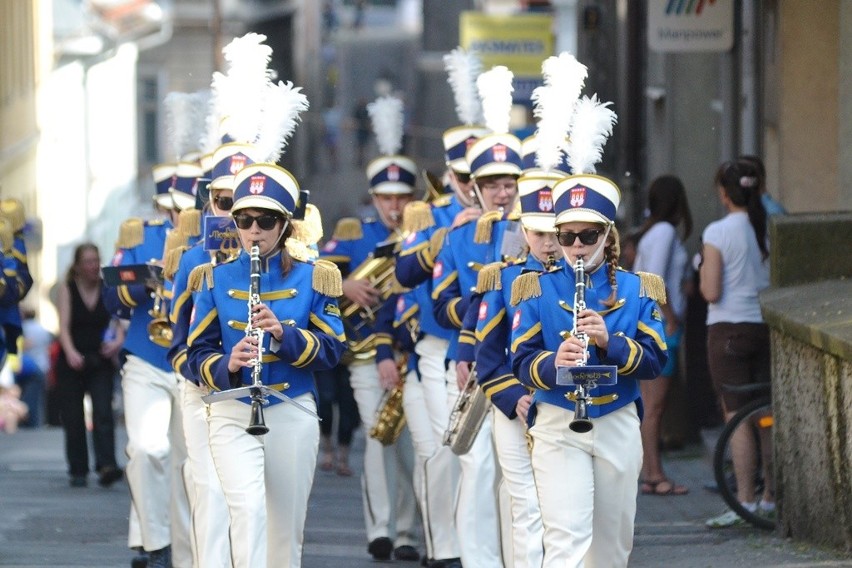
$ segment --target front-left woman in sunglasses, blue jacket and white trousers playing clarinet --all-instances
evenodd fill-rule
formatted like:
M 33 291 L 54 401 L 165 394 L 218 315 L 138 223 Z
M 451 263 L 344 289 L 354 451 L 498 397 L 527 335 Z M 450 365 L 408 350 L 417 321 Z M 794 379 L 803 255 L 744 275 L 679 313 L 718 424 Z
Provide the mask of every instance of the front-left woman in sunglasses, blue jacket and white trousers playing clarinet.
M 268 397 L 263 435 L 246 432 L 248 396 L 212 402 L 208 424 L 230 513 L 233 565 L 297 567 L 319 449 L 313 372 L 334 367 L 344 351 L 336 300 L 341 278 L 330 263 L 302 262 L 287 252 L 299 195 L 287 170 L 253 164 L 237 173 L 234 186 L 231 214 L 243 250 L 190 277 L 200 290 L 187 355 L 192 372 L 213 391 L 251 385 L 261 357 L 261 382 L 288 398 Z M 253 246 L 260 302 L 249 313 Z M 262 330 L 260 344 L 246 333 L 248 318 Z

